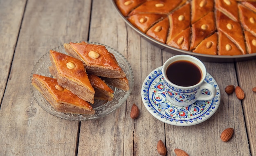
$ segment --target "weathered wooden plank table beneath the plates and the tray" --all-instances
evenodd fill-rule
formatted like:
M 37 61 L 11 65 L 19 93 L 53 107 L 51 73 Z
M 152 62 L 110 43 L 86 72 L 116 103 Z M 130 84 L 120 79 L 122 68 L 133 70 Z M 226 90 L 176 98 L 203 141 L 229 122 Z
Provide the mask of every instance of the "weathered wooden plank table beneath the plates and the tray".
M 110 0 L 0 0 L 0 155 L 1 156 L 156 156 L 161 139 L 167 156 L 180 148 L 190 156 L 256 156 L 256 60 L 204 62 L 218 82 L 218 111 L 193 126 L 174 126 L 152 116 L 141 101 L 146 76 L 172 53 L 140 37 L 121 19 Z M 106 44 L 131 64 L 135 86 L 115 112 L 92 121 L 57 118 L 31 95 L 34 64 L 50 49 L 67 42 Z M 245 99 L 227 95 L 240 86 Z M 139 118 L 130 118 L 136 103 Z M 234 136 L 222 142 L 228 127 Z

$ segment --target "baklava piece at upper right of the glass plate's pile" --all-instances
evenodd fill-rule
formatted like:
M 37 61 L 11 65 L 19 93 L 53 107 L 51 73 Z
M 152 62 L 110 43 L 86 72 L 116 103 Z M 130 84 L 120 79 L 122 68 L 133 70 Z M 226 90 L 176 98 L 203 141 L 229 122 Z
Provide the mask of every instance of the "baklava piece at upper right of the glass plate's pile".
M 105 46 L 70 42 L 65 43 L 64 48 L 70 56 L 83 62 L 88 74 L 110 78 L 126 77 L 114 55 Z

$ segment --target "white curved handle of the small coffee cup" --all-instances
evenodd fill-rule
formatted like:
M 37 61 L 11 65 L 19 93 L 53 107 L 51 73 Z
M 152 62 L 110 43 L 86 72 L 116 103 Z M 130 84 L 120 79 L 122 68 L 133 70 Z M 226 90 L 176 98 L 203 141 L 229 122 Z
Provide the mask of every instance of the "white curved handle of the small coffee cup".
M 217 90 L 213 85 L 211 85 L 209 83 L 204 83 L 200 87 L 200 90 L 203 90 L 203 89 L 209 90 L 211 92 L 211 94 L 205 95 L 205 94 L 201 94 L 201 92 L 200 92 L 197 100 L 210 100 L 210 99 L 213 99 L 213 97 L 215 97 Z

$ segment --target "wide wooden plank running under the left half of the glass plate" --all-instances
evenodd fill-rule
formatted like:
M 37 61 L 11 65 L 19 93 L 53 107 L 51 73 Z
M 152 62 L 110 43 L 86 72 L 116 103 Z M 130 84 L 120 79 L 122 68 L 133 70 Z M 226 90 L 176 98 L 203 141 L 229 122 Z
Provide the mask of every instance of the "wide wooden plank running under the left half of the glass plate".
M 19 5 L 13 4 L 13 11 L 20 11 L 22 2 L 16 2 Z M 28 1 L 0 109 L 0 155 L 76 154 L 79 123 L 40 108 L 31 96 L 29 77 L 34 64 L 50 49 L 88 38 L 90 7 L 90 0 Z

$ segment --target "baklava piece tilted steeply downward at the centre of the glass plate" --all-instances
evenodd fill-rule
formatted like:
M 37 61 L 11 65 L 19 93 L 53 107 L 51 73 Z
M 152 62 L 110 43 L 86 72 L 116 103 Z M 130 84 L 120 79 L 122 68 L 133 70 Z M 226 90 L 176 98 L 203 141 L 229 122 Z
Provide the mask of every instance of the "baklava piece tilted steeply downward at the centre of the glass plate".
M 92 87 L 83 62 L 74 57 L 50 51 L 50 60 L 52 67 L 49 71 L 54 75 L 58 84 L 79 98 L 94 103 L 94 88 Z

